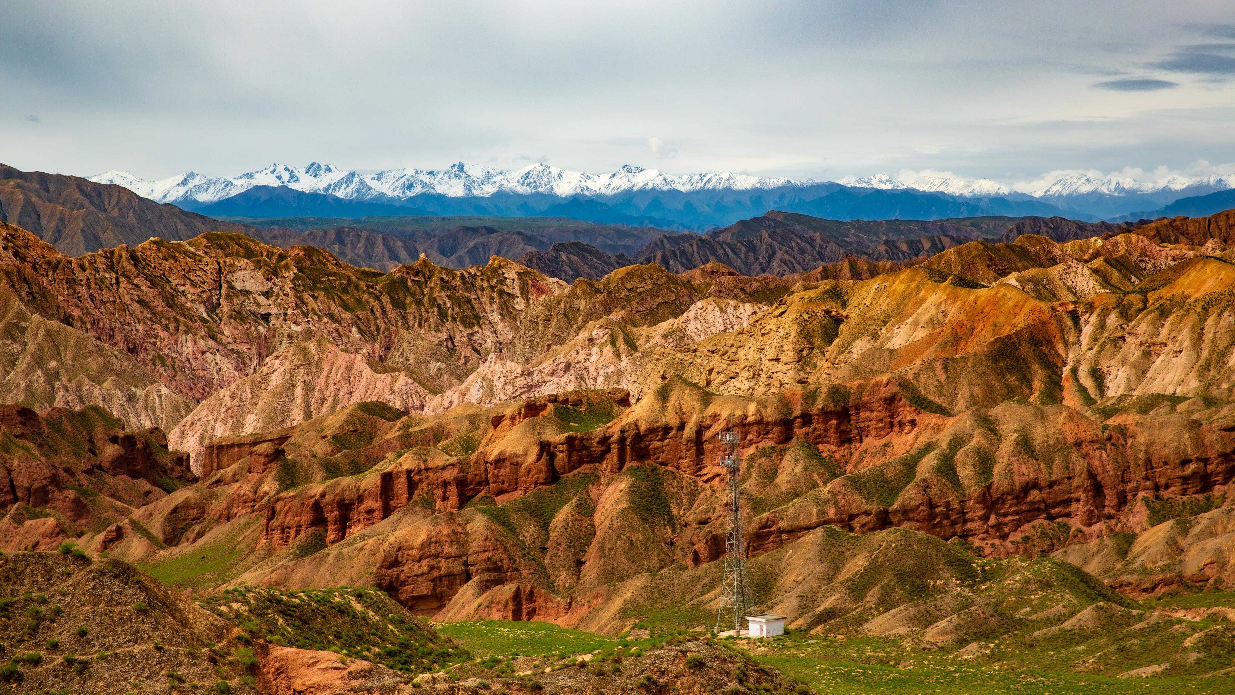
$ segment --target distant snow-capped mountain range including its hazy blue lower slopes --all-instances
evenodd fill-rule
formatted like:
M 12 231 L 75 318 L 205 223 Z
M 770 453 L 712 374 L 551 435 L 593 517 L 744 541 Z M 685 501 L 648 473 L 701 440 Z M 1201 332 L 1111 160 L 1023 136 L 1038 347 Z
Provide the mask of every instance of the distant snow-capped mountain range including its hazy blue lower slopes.
M 535 208 L 536 214 L 545 214 L 546 209 L 555 205 L 566 205 L 566 209 L 571 205 L 579 207 L 577 199 L 583 198 L 613 208 L 605 213 L 609 216 L 600 218 L 595 205 L 592 205 L 588 213 L 590 216 L 585 219 L 631 221 L 629 218 L 634 216 L 636 221 L 657 220 L 653 224 L 659 226 L 680 224 L 698 230 L 714 224 L 730 224 L 772 208 L 836 216 L 837 202 L 827 204 L 827 209 L 834 210 L 831 213 L 825 213 L 825 208 L 818 202 L 814 208 L 808 204 L 837 190 L 851 190 L 857 194 L 881 192 L 890 195 L 893 200 L 909 200 L 897 194 L 916 193 L 936 198 L 936 205 L 951 204 L 950 211 L 934 216 L 971 214 L 1049 216 L 1070 211 L 1088 219 L 1105 219 L 1162 205 L 1177 198 L 1235 187 L 1235 177 L 1224 174 L 1202 177 L 1172 174 L 1157 181 L 1141 182 L 1125 176 L 1098 178 L 1087 173 L 1065 173 L 1056 176 L 1049 184 L 1040 184 L 1030 192 L 1020 192 L 988 179 L 966 179 L 930 172 L 914 174 L 908 181 L 879 174 L 846 177 L 840 182 L 816 182 L 729 172 L 677 176 L 629 164 L 609 173 L 587 174 L 548 164 L 530 164 L 521 169 L 503 171 L 463 162 L 440 171 L 401 168 L 372 174 L 345 172 L 314 162 L 303 168 L 270 164 L 233 178 L 210 178 L 190 172 L 152 182 L 116 171 L 90 178 L 127 185 L 154 200 L 174 203 L 186 209 L 219 203 L 256 185 L 288 187 L 305 193 L 331 194 L 374 204 L 405 204 L 437 214 L 477 214 L 485 210 L 529 214 L 530 208 Z M 718 194 L 727 194 L 730 198 L 741 195 L 746 200 L 741 203 L 740 210 L 725 213 L 722 208 L 732 207 L 731 203 L 737 200 L 734 198 L 730 203 L 724 203 L 716 198 Z M 706 215 L 699 211 L 688 213 L 683 209 L 683 200 L 689 200 L 695 208 L 704 207 L 713 211 Z M 873 207 L 876 200 L 866 200 L 866 208 L 842 219 L 923 216 L 920 213 L 900 213 L 895 205 Z M 920 205 L 923 199 L 918 199 L 918 203 Z M 657 204 L 677 211 L 662 213 Z M 763 209 L 756 209 L 760 207 Z

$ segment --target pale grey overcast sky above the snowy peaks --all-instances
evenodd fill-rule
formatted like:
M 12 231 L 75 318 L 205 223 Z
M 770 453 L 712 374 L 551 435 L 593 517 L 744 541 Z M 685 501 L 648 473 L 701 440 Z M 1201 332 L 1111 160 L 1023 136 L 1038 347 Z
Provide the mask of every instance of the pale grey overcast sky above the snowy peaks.
M 0 0 L 0 162 L 1204 173 L 1235 162 L 1231 10 Z

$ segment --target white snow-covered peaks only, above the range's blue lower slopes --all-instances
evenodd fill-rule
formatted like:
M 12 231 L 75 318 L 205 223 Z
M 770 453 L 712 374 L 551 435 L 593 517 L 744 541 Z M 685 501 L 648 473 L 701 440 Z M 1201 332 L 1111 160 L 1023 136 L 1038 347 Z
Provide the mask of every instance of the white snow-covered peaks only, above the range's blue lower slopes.
M 445 169 L 401 168 L 372 174 L 343 171 L 330 164 L 310 163 L 306 167 L 270 164 L 263 169 L 232 178 L 206 177 L 195 172 L 146 181 L 131 173 L 110 171 L 89 177 L 98 183 L 115 183 L 157 200 L 196 208 L 224 200 L 254 185 L 285 185 L 306 193 L 327 193 L 347 200 L 405 200 L 420 194 L 450 198 L 489 197 L 498 193 L 548 194 L 562 198 L 574 195 L 615 195 L 632 190 L 758 190 L 785 187 L 808 187 L 820 182 L 766 178 L 730 172 L 676 176 L 657 169 L 624 166 L 600 174 L 572 172 L 548 164 L 531 164 L 505 171 L 480 164 L 452 164 Z M 990 179 L 963 178 L 947 173 L 905 172 L 900 178 L 888 174 L 846 177 L 836 183 L 853 188 L 883 190 L 923 190 L 961 198 L 1031 195 L 1058 199 L 1087 194 L 1136 195 L 1171 192 L 1212 192 L 1235 188 L 1235 174 L 1187 177 L 1168 174 L 1153 181 L 1137 181 L 1125 176 L 1093 176 L 1065 173 L 1034 184 L 1013 189 Z

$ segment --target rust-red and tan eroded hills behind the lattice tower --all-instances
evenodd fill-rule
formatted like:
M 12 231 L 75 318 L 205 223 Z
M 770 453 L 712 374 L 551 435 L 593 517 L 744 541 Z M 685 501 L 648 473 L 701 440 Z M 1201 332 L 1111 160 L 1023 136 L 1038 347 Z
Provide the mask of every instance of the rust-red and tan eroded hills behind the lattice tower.
M 757 600 L 794 628 L 1152 627 L 1210 673 L 1216 617 L 1132 600 L 1235 581 L 1231 215 L 569 284 L 215 231 L 72 257 L 5 225 L 0 543 L 207 594 L 709 627 L 732 428 Z

